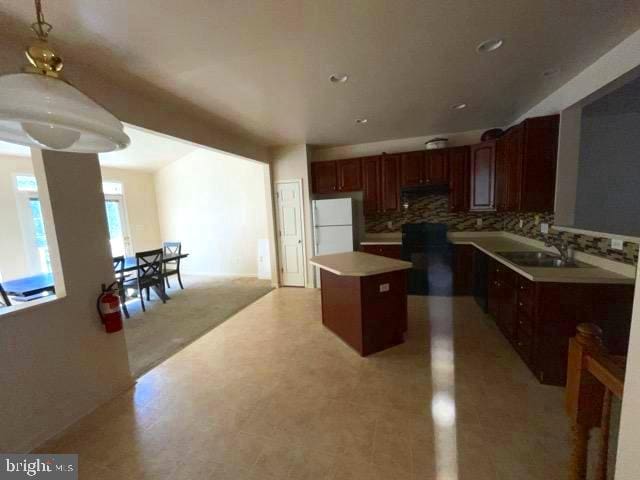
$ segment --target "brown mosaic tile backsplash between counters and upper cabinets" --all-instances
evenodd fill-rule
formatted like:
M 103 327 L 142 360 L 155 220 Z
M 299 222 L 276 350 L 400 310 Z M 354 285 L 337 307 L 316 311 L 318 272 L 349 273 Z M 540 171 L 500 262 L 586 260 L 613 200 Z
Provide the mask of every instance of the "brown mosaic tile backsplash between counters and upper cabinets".
M 638 263 L 638 244 L 625 242 L 623 250 L 612 250 L 610 239 L 552 230 L 540 232 L 540 223 L 553 225 L 552 213 L 449 212 L 449 198 L 443 194 L 414 194 L 403 198 L 407 208 L 365 217 L 367 233 L 399 232 L 405 223 L 446 223 L 451 231 L 506 231 L 545 241 L 549 237 L 567 240 L 576 251 L 631 265 Z M 481 223 L 479 223 L 479 220 Z M 522 220 L 522 228 L 520 227 Z M 389 223 L 390 222 L 390 223 Z M 391 225 L 391 228 L 389 228 Z

